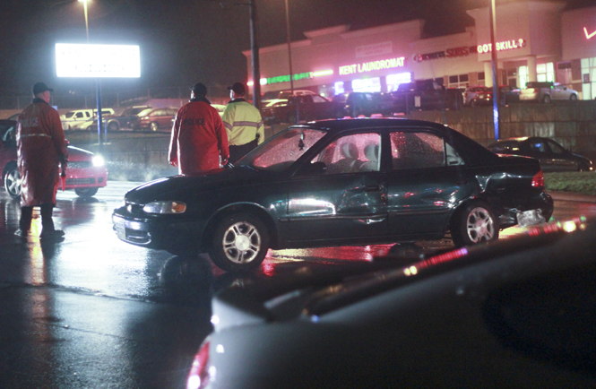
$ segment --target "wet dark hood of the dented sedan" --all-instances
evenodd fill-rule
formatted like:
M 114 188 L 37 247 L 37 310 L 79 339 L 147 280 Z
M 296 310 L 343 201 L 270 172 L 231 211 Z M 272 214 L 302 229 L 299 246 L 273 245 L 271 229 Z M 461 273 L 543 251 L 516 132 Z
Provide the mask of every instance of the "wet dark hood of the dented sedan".
M 240 166 L 213 169 L 196 176 L 173 176 L 156 179 L 137 186 L 125 195 L 128 203 L 148 203 L 157 200 L 171 200 L 176 194 L 197 194 L 224 190 L 230 187 L 254 185 L 278 176 L 271 172 L 259 171 Z

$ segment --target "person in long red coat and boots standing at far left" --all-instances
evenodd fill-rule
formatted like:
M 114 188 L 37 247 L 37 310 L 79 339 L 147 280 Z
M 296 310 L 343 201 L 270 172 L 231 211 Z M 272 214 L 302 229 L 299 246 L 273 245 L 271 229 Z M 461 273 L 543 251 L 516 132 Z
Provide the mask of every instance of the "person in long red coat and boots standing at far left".
M 52 212 L 56 206 L 59 168 L 66 169 L 68 151 L 65 133 L 56 109 L 49 105 L 49 92 L 44 82 L 33 85 L 33 101 L 18 119 L 17 163 L 21 174 L 21 219 L 15 235 L 27 238 L 33 207 L 39 206 L 41 234 L 39 238 L 60 238 L 65 232 L 55 229 Z

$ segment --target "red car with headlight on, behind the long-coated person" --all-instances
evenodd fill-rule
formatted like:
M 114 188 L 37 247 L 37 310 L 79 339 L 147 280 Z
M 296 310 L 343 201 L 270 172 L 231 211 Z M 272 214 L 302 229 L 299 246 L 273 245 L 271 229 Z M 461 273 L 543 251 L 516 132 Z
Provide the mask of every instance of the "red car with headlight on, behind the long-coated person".
M 21 177 L 16 163 L 16 121 L 0 120 L 0 169 L 4 189 L 13 198 L 21 195 Z M 68 146 L 65 189 L 81 197 L 91 197 L 106 186 L 108 169 L 104 160 L 91 151 Z

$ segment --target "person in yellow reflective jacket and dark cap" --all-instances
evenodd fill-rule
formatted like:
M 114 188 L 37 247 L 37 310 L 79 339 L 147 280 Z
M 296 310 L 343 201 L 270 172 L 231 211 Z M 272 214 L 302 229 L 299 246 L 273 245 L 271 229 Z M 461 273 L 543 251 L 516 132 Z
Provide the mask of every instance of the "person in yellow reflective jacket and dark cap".
M 231 99 L 223 111 L 223 125 L 229 142 L 229 162 L 244 157 L 265 140 L 261 112 L 244 99 L 246 88 L 242 82 L 228 87 Z

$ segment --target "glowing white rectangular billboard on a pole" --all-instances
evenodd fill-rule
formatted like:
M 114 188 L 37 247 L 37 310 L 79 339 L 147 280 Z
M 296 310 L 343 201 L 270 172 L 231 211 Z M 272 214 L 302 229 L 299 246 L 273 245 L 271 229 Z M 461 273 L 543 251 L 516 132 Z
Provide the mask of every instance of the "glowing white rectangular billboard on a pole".
M 141 77 L 141 52 L 130 45 L 56 43 L 58 77 Z

